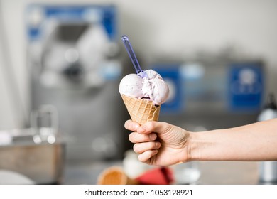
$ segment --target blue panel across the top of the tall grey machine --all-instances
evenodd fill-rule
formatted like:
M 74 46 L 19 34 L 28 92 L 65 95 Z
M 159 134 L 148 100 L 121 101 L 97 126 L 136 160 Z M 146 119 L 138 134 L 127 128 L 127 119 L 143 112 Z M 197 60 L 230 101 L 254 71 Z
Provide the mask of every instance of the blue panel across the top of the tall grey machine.
M 40 17 L 42 20 L 40 24 L 27 24 L 28 26 L 28 37 L 30 40 L 38 39 L 42 36 L 42 29 L 45 20 L 55 19 L 60 22 L 90 22 L 90 19 L 97 15 L 99 21 L 102 23 L 104 28 L 109 35 L 109 38 L 114 41 L 116 40 L 116 7 L 115 6 L 49 6 L 43 4 L 31 4 L 28 6 L 27 13 L 38 13 L 40 11 Z

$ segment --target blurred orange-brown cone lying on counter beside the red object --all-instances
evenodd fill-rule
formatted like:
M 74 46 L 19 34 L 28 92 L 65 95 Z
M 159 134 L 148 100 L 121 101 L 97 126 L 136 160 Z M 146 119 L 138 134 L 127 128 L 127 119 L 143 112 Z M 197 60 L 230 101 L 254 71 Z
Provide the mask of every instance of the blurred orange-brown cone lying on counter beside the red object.
M 138 182 L 129 178 L 119 166 L 106 168 L 98 176 L 99 185 L 136 185 Z

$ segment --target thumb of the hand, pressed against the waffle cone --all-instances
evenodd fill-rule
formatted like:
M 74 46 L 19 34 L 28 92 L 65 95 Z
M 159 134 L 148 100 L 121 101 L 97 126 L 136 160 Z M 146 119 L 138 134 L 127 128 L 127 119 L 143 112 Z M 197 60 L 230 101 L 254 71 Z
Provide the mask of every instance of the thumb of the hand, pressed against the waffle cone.
M 141 125 L 136 129 L 139 134 L 149 134 L 151 132 L 156 132 L 162 134 L 166 131 L 169 131 L 172 126 L 165 122 L 146 122 L 146 124 Z

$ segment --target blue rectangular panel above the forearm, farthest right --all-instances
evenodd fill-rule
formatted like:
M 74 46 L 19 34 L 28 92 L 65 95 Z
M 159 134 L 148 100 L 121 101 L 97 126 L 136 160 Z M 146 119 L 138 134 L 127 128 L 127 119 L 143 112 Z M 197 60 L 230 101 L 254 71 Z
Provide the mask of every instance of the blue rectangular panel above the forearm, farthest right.
M 264 90 L 262 63 L 232 63 L 229 65 L 229 110 L 259 111 Z

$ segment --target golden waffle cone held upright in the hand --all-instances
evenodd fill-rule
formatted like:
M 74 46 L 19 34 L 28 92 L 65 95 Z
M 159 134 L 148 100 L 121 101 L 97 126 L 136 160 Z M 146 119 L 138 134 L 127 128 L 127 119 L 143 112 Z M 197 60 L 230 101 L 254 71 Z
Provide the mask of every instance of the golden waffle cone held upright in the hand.
M 161 106 L 156 106 L 151 100 L 137 99 L 121 95 L 124 104 L 134 122 L 144 124 L 148 121 L 158 121 Z

